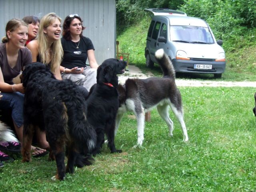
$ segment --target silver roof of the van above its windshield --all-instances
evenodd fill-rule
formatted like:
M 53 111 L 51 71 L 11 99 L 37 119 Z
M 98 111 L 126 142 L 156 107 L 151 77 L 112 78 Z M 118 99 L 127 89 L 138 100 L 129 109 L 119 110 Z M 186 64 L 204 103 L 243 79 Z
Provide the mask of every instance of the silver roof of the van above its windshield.
M 162 17 L 162 16 L 155 16 L 155 17 Z M 154 18 L 155 18 L 154 17 Z M 196 17 L 184 17 L 184 16 L 163 16 L 168 18 L 170 25 L 185 25 L 185 26 L 200 26 L 200 27 L 208 27 L 208 24 Z

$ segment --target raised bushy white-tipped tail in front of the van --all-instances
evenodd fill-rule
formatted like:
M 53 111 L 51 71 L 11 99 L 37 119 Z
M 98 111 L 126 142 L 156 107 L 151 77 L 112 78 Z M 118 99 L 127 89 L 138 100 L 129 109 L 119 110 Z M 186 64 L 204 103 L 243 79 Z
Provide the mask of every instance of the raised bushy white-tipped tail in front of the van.
M 156 60 L 158 61 L 164 76 L 169 76 L 175 79 L 175 70 L 170 58 L 164 53 L 164 49 L 158 49 L 155 53 Z

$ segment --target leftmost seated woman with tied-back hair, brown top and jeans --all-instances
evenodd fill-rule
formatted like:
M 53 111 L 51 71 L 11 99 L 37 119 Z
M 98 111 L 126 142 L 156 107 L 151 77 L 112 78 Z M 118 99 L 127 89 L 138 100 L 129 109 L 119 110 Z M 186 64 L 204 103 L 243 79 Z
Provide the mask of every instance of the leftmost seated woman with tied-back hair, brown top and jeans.
M 6 36 L 0 43 L 0 109 L 11 109 L 11 116 L 18 139 L 23 139 L 23 102 L 22 83 L 14 84 L 13 78 L 20 74 L 26 64 L 32 62 L 31 52 L 24 45 L 28 40 L 28 26 L 23 20 L 12 19 L 6 24 Z M 6 114 L 4 114 L 6 115 Z M 38 134 L 38 136 L 41 136 Z M 40 139 L 40 138 L 39 138 Z M 0 141 L 0 149 L 20 152 L 20 143 Z M 32 156 L 45 155 L 46 150 L 32 146 Z M 0 160 L 10 162 L 11 158 L 0 151 Z

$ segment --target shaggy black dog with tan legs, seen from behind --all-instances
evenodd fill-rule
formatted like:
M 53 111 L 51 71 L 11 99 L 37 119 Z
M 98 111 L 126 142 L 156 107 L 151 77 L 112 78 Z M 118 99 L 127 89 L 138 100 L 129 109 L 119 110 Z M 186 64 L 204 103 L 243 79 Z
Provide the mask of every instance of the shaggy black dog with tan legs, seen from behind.
M 74 165 L 92 164 L 90 154 L 96 145 L 96 132 L 86 117 L 82 92 L 70 80 L 57 80 L 41 63 L 26 66 L 22 73 L 24 96 L 23 162 L 30 161 L 30 146 L 35 126 L 46 132 L 52 157 L 56 159 L 56 179 L 63 180 Z M 68 157 L 65 170 L 64 156 Z

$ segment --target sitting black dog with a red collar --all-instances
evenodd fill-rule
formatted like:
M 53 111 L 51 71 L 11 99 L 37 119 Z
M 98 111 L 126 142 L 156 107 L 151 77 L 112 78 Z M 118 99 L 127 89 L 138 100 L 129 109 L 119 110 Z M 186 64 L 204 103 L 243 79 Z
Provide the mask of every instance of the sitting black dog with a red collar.
M 87 98 L 88 121 L 97 133 L 97 144 L 92 154 L 100 153 L 104 143 L 104 135 L 108 138 L 108 147 L 111 152 L 122 152 L 116 150 L 114 144 L 115 119 L 119 106 L 118 101 L 118 77 L 117 74 L 124 73 L 126 62 L 117 59 L 105 60 L 97 70 L 97 84 L 90 89 Z

